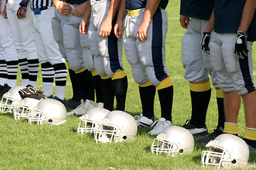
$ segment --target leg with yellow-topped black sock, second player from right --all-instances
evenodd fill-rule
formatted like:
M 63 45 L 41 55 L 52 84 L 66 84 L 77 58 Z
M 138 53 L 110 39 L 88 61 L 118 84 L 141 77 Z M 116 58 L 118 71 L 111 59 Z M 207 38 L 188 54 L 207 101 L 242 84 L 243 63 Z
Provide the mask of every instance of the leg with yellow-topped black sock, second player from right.
M 191 18 L 188 29 L 183 35 L 181 60 L 186 69 L 184 77 L 190 82 L 191 94 L 191 120 L 183 125 L 193 135 L 207 134 L 206 113 L 210 101 L 210 81 L 208 70 L 204 64 L 203 54 L 200 47 L 201 30 L 207 21 Z M 193 45 L 192 45 L 193 44 Z M 208 56 L 210 57 L 210 56 Z

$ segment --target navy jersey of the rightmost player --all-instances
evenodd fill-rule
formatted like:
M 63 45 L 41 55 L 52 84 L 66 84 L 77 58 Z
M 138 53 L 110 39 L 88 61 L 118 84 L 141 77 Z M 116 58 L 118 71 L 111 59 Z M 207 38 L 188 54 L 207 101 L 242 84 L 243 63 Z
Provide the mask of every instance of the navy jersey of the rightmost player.
M 216 33 L 236 33 L 242 18 L 245 0 L 215 0 L 214 30 Z

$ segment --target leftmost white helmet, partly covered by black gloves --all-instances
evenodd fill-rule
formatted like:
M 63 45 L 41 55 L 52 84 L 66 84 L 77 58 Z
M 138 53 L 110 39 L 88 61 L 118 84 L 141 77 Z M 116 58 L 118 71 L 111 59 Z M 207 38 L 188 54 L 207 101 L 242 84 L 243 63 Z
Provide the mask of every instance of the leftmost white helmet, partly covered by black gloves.
M 3 113 L 12 112 L 18 101 L 21 101 L 21 96 L 18 94 L 18 91 L 24 88 L 26 87 L 14 86 L 5 93 L 1 98 L 0 111 Z

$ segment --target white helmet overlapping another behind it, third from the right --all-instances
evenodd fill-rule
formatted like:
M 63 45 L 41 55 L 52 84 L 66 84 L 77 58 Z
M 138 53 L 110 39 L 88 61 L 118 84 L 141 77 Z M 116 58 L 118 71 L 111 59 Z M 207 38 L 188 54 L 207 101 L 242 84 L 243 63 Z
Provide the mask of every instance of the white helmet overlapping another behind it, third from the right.
M 136 120 L 124 111 L 107 113 L 95 130 L 96 142 L 123 142 L 134 141 L 137 135 Z

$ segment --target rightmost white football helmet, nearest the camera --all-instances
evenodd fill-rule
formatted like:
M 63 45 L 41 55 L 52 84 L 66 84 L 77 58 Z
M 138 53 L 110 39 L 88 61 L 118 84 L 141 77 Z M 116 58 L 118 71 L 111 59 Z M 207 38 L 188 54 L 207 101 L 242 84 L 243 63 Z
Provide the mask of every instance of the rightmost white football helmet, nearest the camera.
M 203 151 L 201 162 L 205 165 L 246 166 L 249 159 L 249 148 L 244 140 L 231 134 L 218 135 L 208 142 L 209 151 Z

